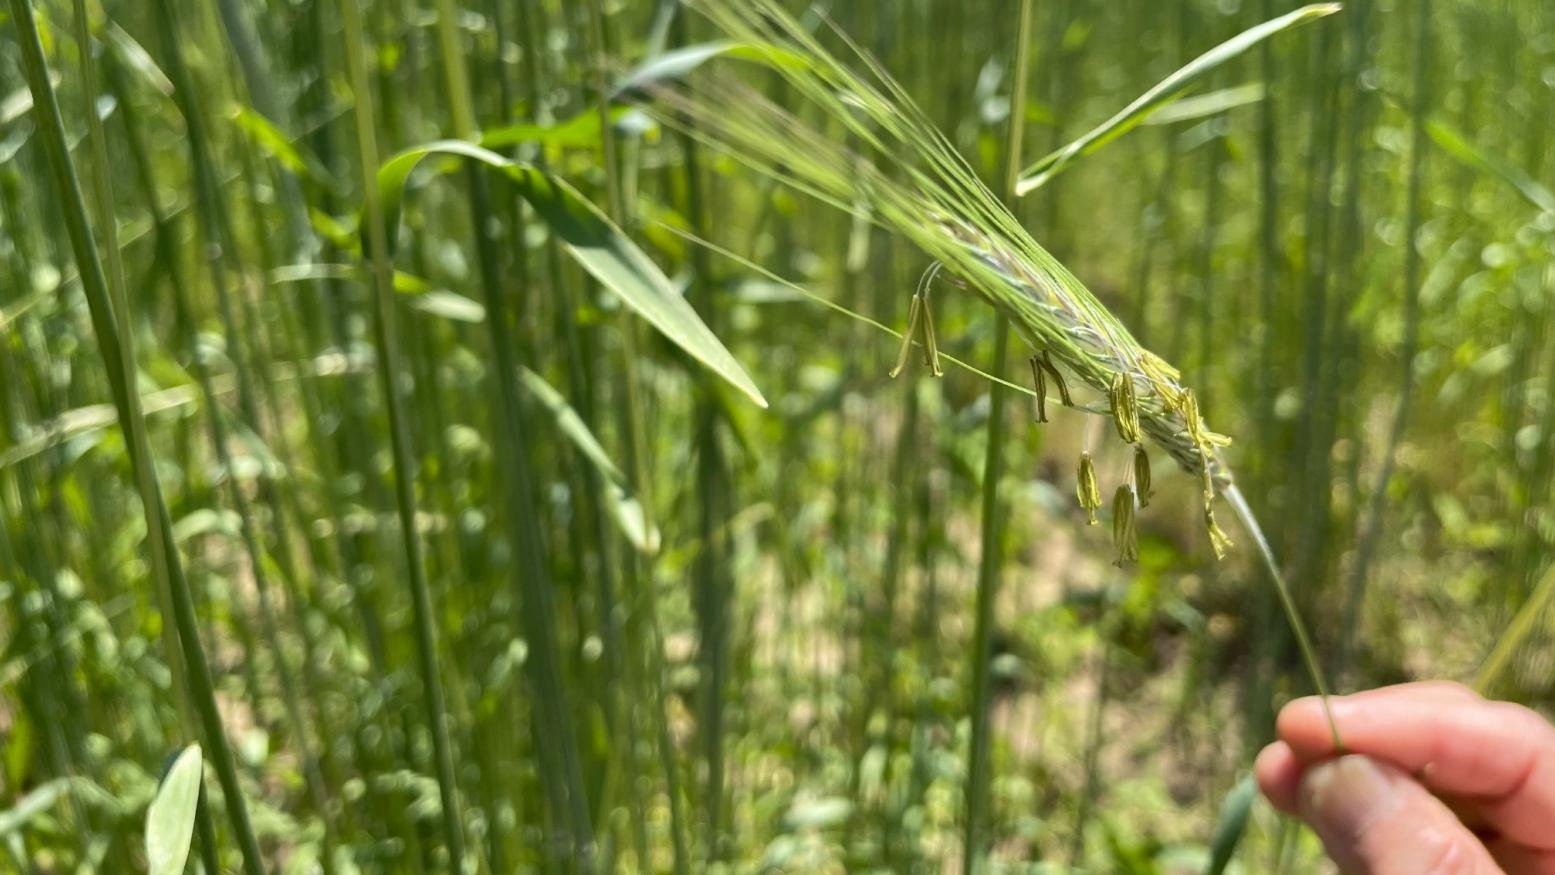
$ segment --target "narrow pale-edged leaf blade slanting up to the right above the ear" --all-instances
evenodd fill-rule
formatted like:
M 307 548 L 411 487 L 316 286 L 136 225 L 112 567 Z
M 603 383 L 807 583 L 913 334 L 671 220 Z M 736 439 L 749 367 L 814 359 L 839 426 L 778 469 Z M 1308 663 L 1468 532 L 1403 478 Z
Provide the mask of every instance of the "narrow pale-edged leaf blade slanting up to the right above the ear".
M 1325 16 L 1333 16 L 1339 9 L 1339 3 L 1314 3 L 1311 6 L 1302 6 L 1294 12 L 1286 12 L 1278 19 L 1270 19 L 1261 25 L 1247 28 L 1221 45 L 1216 45 L 1210 51 L 1194 58 L 1176 73 L 1157 82 L 1155 87 L 1140 95 L 1134 103 L 1118 110 L 1116 115 L 1088 131 L 1079 140 L 1075 140 L 1073 143 L 1048 154 L 1045 159 L 1022 171 L 1020 180 L 1015 183 L 1015 194 L 1026 196 L 1037 188 L 1042 188 L 1042 185 L 1048 180 L 1068 169 L 1068 165 L 1071 165 L 1076 159 L 1082 159 L 1127 134 L 1152 113 L 1182 96 L 1185 90 L 1249 48 L 1278 33 Z

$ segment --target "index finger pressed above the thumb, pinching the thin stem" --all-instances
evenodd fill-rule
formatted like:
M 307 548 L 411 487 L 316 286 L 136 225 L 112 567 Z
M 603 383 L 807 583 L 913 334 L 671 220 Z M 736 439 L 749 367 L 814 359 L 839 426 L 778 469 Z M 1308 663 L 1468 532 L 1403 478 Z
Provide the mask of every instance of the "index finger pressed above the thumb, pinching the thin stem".
M 1521 706 L 1410 687 L 1333 696 L 1345 751 L 1317 698 L 1280 712 L 1280 738 L 1302 765 L 1340 752 L 1393 763 L 1434 793 L 1473 800 L 1502 836 L 1555 850 L 1555 727 Z

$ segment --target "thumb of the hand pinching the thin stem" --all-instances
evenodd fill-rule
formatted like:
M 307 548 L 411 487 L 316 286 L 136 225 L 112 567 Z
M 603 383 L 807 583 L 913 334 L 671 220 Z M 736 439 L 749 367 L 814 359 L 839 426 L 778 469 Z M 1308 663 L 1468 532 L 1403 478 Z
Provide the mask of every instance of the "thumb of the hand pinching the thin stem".
M 1308 768 L 1300 808 L 1347 875 L 1501 872 L 1440 799 L 1370 757 L 1339 757 Z

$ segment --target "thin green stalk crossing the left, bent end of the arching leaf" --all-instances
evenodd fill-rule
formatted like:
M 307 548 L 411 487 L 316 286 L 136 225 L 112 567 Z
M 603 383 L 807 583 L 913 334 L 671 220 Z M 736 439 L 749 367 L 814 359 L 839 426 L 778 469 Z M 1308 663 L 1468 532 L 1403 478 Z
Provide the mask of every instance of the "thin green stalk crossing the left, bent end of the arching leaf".
M 432 734 L 432 760 L 437 769 L 437 796 L 442 807 L 442 831 L 448 852 L 448 867 L 463 870 L 465 835 L 459 790 L 454 780 L 454 752 L 448 737 L 446 695 L 437 659 L 437 625 L 426 561 L 415 518 L 415 462 L 411 454 L 411 424 L 406 421 L 400 395 L 400 347 L 395 336 L 393 266 L 389 261 L 389 235 L 378 197 L 376 169 L 378 134 L 375 131 L 373 89 L 367 75 L 367 37 L 358 0 L 341 0 L 341 26 L 345 40 L 350 89 L 356 99 L 356 148 L 362 179 L 362 224 L 367 256 L 372 266 L 373 345 L 378 351 L 378 382 L 389 413 L 389 443 L 393 458 L 395 511 L 400 518 L 400 541 L 404 547 L 406 575 L 411 587 L 415 653 L 420 670 L 426 721 Z

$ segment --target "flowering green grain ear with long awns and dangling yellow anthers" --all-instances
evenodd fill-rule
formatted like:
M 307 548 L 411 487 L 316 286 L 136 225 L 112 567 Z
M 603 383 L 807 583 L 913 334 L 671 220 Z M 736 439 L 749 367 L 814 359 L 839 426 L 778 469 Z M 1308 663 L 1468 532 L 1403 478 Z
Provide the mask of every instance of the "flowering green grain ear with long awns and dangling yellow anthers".
M 1042 396 L 1050 387 L 1065 406 L 1075 406 L 1068 381 L 1115 396 L 1118 435 L 1130 444 L 1148 437 L 1185 471 L 1200 476 L 1210 521 L 1210 502 L 1232 483 L 1218 454 L 1228 438 L 1205 424 L 1182 375 L 1146 350 L 1031 238 L 879 62 L 847 34 L 833 33 L 858 68 L 843 64 L 778 0 L 687 2 L 729 39 L 753 47 L 748 59 L 765 62 L 791 93 L 846 135 L 807 123 L 734 76 L 709 76 L 694 93 L 659 89 L 662 112 L 655 112 L 661 123 L 919 247 L 1037 351 L 1037 421 L 1047 420 Z M 924 295 L 910 336 L 930 334 Z M 931 359 L 928 343 L 924 347 Z M 905 356 L 897 373 L 902 365 Z M 1148 479 L 1148 462 L 1137 462 L 1140 507 L 1151 497 Z M 1218 528 L 1211 541 L 1224 550 Z

